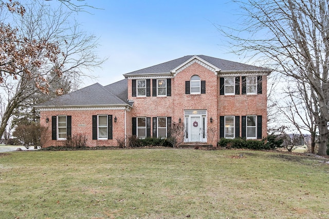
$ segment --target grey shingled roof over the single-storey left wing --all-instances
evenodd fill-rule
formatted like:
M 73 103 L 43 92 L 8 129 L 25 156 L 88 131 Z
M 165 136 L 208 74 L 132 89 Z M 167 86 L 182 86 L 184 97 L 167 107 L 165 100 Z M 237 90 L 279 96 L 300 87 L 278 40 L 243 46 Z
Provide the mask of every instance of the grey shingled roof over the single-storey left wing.
M 124 85 L 124 83 L 122 83 L 121 85 Z M 125 87 L 122 86 L 121 90 L 123 89 L 125 89 L 127 92 L 127 85 Z M 125 96 L 125 94 L 121 93 L 119 96 L 123 97 Z M 111 90 L 108 90 L 102 85 L 96 83 L 88 87 L 82 88 L 80 90 L 74 91 L 72 93 L 59 96 L 55 99 L 52 99 L 50 101 L 47 101 L 39 105 L 38 107 L 43 108 L 43 107 L 58 107 L 58 106 L 66 106 L 66 107 L 113 106 L 113 105 L 118 106 L 118 105 L 127 105 L 127 104 L 129 104 L 127 102 L 127 99 L 125 99 L 124 101 L 123 99 L 119 98 L 115 93 L 113 93 Z

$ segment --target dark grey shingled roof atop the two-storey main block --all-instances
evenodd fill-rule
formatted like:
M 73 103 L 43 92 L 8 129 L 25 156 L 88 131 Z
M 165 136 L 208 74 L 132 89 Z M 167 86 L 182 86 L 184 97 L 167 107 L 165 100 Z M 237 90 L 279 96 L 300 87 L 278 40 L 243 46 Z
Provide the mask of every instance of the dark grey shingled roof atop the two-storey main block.
M 143 74 L 170 74 L 172 70 L 174 70 L 175 68 L 177 68 L 180 65 L 185 64 L 187 61 L 189 61 L 189 59 L 191 59 L 192 57 L 195 57 L 195 56 L 210 63 L 211 65 L 215 66 L 217 69 L 220 69 L 221 72 L 241 72 L 241 71 L 245 71 L 245 72 L 266 71 L 266 72 L 269 72 L 269 71 L 271 71 L 270 69 L 267 69 L 267 68 L 232 62 L 232 61 L 228 61 L 225 59 L 214 58 L 214 57 L 210 57 L 210 56 L 206 56 L 206 55 L 187 55 L 187 56 L 180 57 L 180 58 L 174 59 L 174 60 L 166 62 L 166 63 L 162 63 L 162 64 L 158 64 L 158 65 L 151 66 L 148 68 L 144 68 L 144 69 L 140 69 L 140 70 L 133 71 L 130 73 L 126 73 L 126 74 L 124 74 L 124 76 L 127 77 L 127 76 L 134 76 L 134 75 L 143 75 Z

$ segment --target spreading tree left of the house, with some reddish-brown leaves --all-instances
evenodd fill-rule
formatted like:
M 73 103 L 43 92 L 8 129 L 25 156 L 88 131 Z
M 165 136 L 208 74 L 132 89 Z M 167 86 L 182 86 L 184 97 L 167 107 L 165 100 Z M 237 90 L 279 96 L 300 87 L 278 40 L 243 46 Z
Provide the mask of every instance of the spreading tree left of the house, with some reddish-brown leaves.
M 71 11 L 62 7 L 53 9 L 42 2 L 27 4 L 24 9 L 24 16 L 14 14 L 11 18 L 15 29 L 0 26 L 0 31 L 6 34 L 0 33 L 0 86 L 8 94 L 0 136 L 13 111 L 24 100 L 39 91 L 53 90 L 54 77 L 69 78 L 77 84 L 87 70 L 103 63 L 95 54 L 97 38 L 80 30 Z M 63 94 L 63 88 L 54 91 Z

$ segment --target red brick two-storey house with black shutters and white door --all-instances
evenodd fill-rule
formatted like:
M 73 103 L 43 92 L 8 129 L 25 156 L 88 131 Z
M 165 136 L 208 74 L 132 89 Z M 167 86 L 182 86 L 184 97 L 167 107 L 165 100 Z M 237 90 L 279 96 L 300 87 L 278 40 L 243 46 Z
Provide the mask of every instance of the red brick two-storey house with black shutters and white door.
M 46 130 L 43 147 L 63 145 L 67 135 L 85 135 L 90 147 L 115 146 L 130 135 L 167 137 L 173 122 L 184 123 L 186 144 L 261 139 L 270 72 L 188 55 L 124 74 L 107 86 L 96 83 L 38 106 Z

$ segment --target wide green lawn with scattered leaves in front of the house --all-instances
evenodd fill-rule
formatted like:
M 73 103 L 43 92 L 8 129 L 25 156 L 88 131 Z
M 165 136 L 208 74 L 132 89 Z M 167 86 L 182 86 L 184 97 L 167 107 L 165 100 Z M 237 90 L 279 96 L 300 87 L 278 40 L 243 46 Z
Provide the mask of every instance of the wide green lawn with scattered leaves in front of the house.
M 311 156 L 193 149 L 6 154 L 1 218 L 329 218 L 329 165 Z

